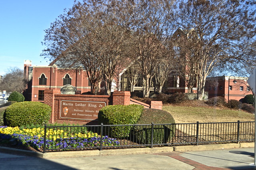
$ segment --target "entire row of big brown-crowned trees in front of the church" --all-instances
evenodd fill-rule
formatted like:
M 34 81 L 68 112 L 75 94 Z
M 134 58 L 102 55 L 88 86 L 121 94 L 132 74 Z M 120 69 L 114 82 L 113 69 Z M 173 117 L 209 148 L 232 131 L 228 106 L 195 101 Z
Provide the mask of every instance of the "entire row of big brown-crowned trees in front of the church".
M 149 96 L 169 72 L 182 75 L 198 99 L 214 69 L 250 72 L 255 65 L 255 0 L 83 0 L 60 15 L 44 37 L 42 56 L 82 67 L 97 94 L 136 64 Z M 177 32 L 177 30 L 179 30 Z M 133 81 L 133 86 L 134 86 Z

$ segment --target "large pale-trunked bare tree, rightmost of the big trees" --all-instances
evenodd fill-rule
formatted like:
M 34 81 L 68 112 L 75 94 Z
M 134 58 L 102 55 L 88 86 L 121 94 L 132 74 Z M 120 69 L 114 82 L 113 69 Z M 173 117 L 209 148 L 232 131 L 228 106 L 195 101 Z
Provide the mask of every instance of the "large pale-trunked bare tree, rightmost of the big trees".
M 180 0 L 178 6 L 177 27 L 191 32 L 186 61 L 194 66 L 198 100 L 202 100 L 206 76 L 215 66 L 254 61 L 244 52 L 251 49 L 256 35 L 255 1 Z

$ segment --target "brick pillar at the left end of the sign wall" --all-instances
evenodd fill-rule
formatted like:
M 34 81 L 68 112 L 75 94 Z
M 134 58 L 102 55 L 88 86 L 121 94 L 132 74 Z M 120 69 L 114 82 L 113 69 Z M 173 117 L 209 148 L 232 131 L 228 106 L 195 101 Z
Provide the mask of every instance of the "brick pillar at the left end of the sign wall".
M 60 94 L 60 90 L 55 90 L 55 89 L 44 90 L 44 104 L 47 104 L 52 107 L 52 115 L 50 118 L 51 123 L 54 123 L 54 116 L 58 116 L 58 112 L 56 113 L 57 115 L 54 115 L 54 94 Z

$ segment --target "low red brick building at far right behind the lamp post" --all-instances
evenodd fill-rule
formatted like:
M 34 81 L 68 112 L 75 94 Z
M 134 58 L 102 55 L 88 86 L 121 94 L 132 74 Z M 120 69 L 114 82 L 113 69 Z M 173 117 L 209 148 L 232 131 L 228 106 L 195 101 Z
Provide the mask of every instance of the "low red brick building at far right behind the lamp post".
M 247 94 L 252 94 L 247 82 L 248 77 L 217 76 L 206 78 L 205 91 L 209 98 L 220 96 L 226 100 L 241 100 Z M 236 80 L 236 81 L 234 81 Z

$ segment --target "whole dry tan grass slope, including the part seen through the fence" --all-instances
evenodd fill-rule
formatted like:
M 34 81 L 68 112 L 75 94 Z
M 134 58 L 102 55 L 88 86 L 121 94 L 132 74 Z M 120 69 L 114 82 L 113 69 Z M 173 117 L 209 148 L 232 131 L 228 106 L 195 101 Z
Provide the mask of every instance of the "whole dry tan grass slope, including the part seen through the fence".
M 254 114 L 252 113 L 240 109 L 208 106 L 203 101 L 197 100 L 164 105 L 163 110 L 168 111 L 174 117 L 175 123 L 196 123 L 197 121 L 206 123 L 200 124 L 199 127 L 202 141 L 236 140 L 237 123 L 216 122 L 254 121 Z M 188 136 L 193 136 L 196 125 L 178 125 L 177 129 Z M 253 139 L 253 129 L 254 123 L 240 123 L 240 133 L 243 134 L 240 139 Z

